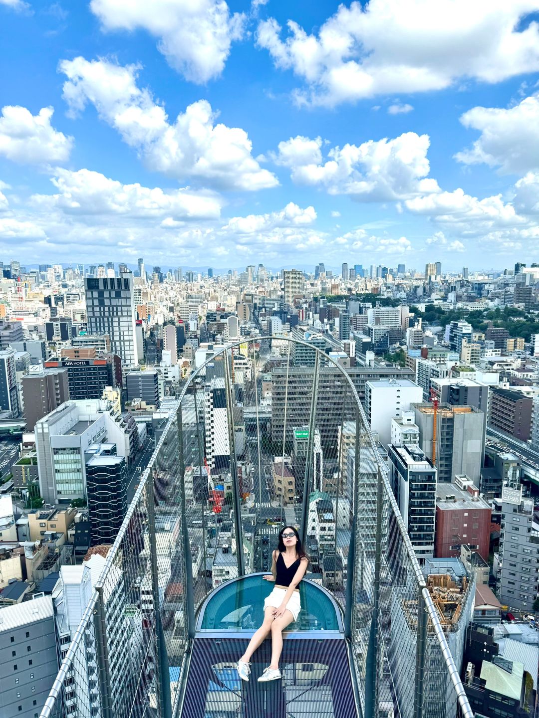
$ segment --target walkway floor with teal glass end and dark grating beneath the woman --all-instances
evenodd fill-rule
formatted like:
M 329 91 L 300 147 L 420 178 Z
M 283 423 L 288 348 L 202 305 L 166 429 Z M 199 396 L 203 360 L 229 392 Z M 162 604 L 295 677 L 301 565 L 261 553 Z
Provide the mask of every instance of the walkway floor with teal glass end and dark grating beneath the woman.
M 354 684 L 341 609 L 323 587 L 300 584 L 302 610 L 283 634 L 283 678 L 257 678 L 270 663 L 268 638 L 252 657 L 251 679 L 236 661 L 264 618 L 272 584 L 249 574 L 216 588 L 198 612 L 182 718 L 356 718 Z

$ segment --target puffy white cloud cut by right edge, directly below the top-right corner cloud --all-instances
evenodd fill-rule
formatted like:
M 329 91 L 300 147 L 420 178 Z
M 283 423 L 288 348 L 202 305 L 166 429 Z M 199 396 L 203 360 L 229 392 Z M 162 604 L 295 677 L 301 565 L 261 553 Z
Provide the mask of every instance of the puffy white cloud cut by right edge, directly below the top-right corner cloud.
M 485 163 L 505 173 L 539 169 L 539 95 L 510 109 L 474 107 L 460 119 L 481 136 L 471 149 L 455 155 L 459 162 Z

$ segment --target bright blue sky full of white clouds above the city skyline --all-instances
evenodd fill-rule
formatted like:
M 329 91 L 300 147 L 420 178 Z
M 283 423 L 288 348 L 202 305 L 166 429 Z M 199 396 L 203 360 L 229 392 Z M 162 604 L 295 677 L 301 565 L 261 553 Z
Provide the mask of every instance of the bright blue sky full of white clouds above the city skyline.
M 0 0 L 0 256 L 503 269 L 539 0 Z

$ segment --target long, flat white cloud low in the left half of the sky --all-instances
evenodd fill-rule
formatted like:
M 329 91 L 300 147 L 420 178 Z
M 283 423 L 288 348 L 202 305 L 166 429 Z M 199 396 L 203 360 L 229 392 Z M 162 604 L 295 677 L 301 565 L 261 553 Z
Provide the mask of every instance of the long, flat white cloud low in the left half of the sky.
M 71 215 L 119 215 L 126 218 L 170 218 L 171 220 L 218 219 L 221 200 L 218 195 L 191 190 L 142 187 L 138 183 L 122 185 L 99 172 L 57 169 L 52 184 L 55 195 L 34 195 L 32 203 L 42 210 L 57 209 Z M 101 221 L 98 219 L 98 221 Z

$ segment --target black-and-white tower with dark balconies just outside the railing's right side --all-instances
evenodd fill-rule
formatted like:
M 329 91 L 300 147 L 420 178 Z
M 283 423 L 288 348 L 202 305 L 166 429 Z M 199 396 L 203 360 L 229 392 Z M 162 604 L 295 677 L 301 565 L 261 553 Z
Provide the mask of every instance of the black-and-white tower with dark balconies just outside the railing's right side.
M 436 467 L 421 449 L 395 446 L 387 449 L 393 493 L 418 559 L 434 556 Z

